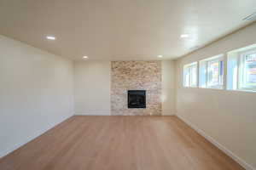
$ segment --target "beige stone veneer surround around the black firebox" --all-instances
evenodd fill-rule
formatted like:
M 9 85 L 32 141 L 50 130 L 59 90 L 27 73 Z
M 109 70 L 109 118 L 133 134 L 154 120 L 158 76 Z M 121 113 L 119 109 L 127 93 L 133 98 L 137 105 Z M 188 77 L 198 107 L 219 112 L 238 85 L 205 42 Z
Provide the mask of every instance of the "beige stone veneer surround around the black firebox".
M 128 109 L 127 90 L 146 90 L 146 109 Z M 161 62 L 111 62 L 111 115 L 161 115 Z

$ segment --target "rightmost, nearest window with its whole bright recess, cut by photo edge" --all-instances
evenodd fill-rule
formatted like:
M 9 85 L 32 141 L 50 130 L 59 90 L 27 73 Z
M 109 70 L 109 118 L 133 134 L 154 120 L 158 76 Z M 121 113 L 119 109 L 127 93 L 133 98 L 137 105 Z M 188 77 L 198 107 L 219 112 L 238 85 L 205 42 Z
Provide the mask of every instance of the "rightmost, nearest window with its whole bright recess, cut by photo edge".
M 227 89 L 256 91 L 256 44 L 228 53 Z

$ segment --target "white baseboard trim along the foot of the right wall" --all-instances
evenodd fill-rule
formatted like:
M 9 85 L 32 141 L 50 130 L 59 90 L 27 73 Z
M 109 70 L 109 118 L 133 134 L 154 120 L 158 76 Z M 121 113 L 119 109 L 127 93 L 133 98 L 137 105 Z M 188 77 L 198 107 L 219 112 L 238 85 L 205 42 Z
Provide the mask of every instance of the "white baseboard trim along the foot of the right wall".
M 241 157 L 236 156 L 232 151 L 228 150 L 224 145 L 219 144 L 217 140 L 213 139 L 211 136 L 207 135 L 203 130 L 200 128 L 196 127 L 194 124 L 191 122 L 187 121 L 186 119 L 183 118 L 183 116 L 177 115 L 178 118 L 180 118 L 183 122 L 185 122 L 189 127 L 193 128 L 197 133 L 201 134 L 205 139 L 207 139 L 209 142 L 214 144 L 216 147 L 218 147 L 219 150 L 222 150 L 226 155 L 230 156 L 234 161 L 239 163 L 241 167 L 244 167 L 247 170 L 256 170 L 253 166 L 248 164 L 246 161 L 242 160 Z

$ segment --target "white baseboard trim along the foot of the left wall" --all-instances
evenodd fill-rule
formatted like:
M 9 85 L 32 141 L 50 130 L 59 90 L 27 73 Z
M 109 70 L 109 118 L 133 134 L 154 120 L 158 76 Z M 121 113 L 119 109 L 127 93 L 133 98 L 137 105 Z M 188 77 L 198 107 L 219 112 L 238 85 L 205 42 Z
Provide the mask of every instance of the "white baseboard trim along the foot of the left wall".
M 73 116 L 73 115 L 72 115 Z M 66 121 L 68 118 L 72 117 L 72 116 L 67 116 L 61 119 L 61 121 L 56 122 L 55 124 L 51 124 L 49 125 L 47 128 L 38 131 L 38 133 L 36 135 L 32 135 L 29 137 L 26 137 L 26 139 L 23 140 L 23 142 L 20 142 L 19 144 L 15 144 L 12 148 L 9 148 L 7 150 L 3 150 L 0 152 L 0 158 L 2 158 L 3 156 L 7 156 L 9 153 L 13 152 L 14 150 L 19 149 L 21 146 L 23 146 L 24 144 L 27 144 L 29 142 L 31 142 L 33 139 L 38 138 L 38 136 L 42 135 L 43 133 L 49 131 L 49 129 L 55 127 L 56 125 L 60 124 L 61 122 Z

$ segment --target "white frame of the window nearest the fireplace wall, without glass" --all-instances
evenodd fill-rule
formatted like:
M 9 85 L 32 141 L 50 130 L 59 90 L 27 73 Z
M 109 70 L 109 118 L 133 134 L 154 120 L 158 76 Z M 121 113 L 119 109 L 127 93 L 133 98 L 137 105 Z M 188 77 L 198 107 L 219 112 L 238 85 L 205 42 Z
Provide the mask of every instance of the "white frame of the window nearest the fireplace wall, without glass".
M 192 84 L 192 69 L 195 68 L 195 85 Z M 189 71 L 189 83 L 187 84 L 186 81 L 186 73 Z M 198 87 L 198 62 L 195 61 L 193 63 L 190 63 L 188 65 L 183 65 L 183 87 L 185 88 L 197 88 Z

